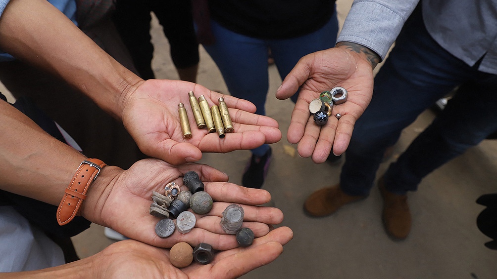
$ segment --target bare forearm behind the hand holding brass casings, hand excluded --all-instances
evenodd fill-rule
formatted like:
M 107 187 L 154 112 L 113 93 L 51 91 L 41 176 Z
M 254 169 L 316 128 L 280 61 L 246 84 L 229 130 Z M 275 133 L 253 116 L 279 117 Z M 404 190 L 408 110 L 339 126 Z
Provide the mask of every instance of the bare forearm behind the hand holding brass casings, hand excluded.
M 124 96 L 142 82 L 45 0 L 7 4 L 0 18 L 0 48 L 60 75 L 119 119 Z

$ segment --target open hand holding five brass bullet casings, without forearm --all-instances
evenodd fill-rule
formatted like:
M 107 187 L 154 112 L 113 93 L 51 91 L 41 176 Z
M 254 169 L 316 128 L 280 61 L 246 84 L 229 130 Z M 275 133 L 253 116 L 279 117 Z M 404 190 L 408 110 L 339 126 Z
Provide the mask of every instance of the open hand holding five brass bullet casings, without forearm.
M 234 132 L 220 139 L 217 133 L 198 129 L 190 107 L 188 92 L 207 99 L 209 107 L 218 105 L 223 97 L 229 108 Z M 177 80 L 147 80 L 123 97 L 122 120 L 140 150 L 148 156 L 179 165 L 195 162 L 202 152 L 226 153 L 253 149 L 264 143 L 281 139 L 276 120 L 254 114 L 255 106 L 229 95 L 222 95 L 190 82 Z M 183 103 L 192 130 L 184 139 L 178 116 L 178 104 Z

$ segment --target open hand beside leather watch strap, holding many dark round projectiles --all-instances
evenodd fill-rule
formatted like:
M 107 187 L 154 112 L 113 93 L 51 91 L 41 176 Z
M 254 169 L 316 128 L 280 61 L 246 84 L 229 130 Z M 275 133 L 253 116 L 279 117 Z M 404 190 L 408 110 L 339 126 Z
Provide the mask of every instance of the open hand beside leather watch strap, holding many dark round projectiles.
M 206 215 L 196 215 L 196 225 L 190 232 L 182 234 L 175 230 L 169 237 L 161 238 L 155 232 L 160 219 L 149 214 L 152 191 L 164 194 L 164 187 L 169 182 L 175 182 L 181 190 L 187 190 L 182 176 L 190 170 L 196 171 L 204 182 L 205 191 L 214 200 L 213 208 Z M 227 181 L 225 173 L 206 165 L 190 163 L 173 167 L 158 159 L 139 161 L 128 170 L 104 167 L 83 203 L 83 216 L 154 246 L 168 248 L 182 241 L 195 246 L 205 242 L 217 250 L 238 246 L 235 236 L 226 234 L 220 224 L 222 212 L 232 203 L 244 208 L 243 226 L 251 228 L 255 237 L 267 234 L 272 224 L 282 222 L 281 210 L 256 206 L 271 200 L 269 192 Z

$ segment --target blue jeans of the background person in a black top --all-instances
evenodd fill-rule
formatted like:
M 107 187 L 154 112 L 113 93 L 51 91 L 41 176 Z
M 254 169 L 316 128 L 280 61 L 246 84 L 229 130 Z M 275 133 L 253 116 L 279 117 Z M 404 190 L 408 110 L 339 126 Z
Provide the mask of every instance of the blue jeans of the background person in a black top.
M 334 47 L 338 20 L 336 12 L 333 12 L 330 21 L 321 29 L 284 40 L 263 40 L 244 36 L 222 27 L 214 20 L 211 20 L 211 29 L 216 43 L 204 48 L 216 62 L 230 94 L 252 102 L 257 107 L 256 113 L 265 115 L 264 105 L 269 88 L 268 48 L 283 79 L 302 56 Z M 297 97 L 297 94 L 292 96 L 292 101 L 295 102 Z M 252 152 L 261 156 L 268 149 L 268 145 L 263 145 Z

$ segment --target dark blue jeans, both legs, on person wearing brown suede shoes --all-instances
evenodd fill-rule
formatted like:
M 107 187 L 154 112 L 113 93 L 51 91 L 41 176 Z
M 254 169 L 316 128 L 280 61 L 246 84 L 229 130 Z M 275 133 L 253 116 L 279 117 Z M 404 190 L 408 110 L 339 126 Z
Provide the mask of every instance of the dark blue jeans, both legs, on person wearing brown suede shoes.
M 340 174 L 349 195 L 368 195 L 386 148 L 433 103 L 459 86 L 443 112 L 384 174 L 396 194 L 497 130 L 497 76 L 478 71 L 441 48 L 427 33 L 419 9 L 374 81 L 371 104 L 358 119 Z

